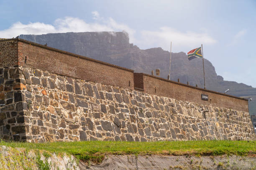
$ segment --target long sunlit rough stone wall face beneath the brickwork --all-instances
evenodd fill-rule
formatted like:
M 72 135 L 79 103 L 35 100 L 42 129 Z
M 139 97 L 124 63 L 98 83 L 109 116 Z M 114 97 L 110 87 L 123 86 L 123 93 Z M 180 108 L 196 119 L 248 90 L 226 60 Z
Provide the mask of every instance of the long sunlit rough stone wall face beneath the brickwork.
M 20 69 L 29 142 L 255 139 L 248 112 Z

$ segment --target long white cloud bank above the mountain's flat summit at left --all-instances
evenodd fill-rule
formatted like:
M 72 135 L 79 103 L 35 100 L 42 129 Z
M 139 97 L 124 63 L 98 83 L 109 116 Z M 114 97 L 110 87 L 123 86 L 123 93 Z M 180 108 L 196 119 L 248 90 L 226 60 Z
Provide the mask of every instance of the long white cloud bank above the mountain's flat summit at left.
M 103 19 L 97 11 L 92 12 L 94 23 L 86 23 L 79 18 L 65 17 L 58 18 L 54 24 L 44 23 L 28 23 L 23 24 L 20 22 L 14 23 L 6 30 L 0 30 L 0 37 L 12 38 L 21 34 L 47 34 L 56 32 L 100 32 L 100 31 L 123 31 L 125 30 L 133 40 L 135 31 L 127 25 L 117 23 L 113 18 Z

